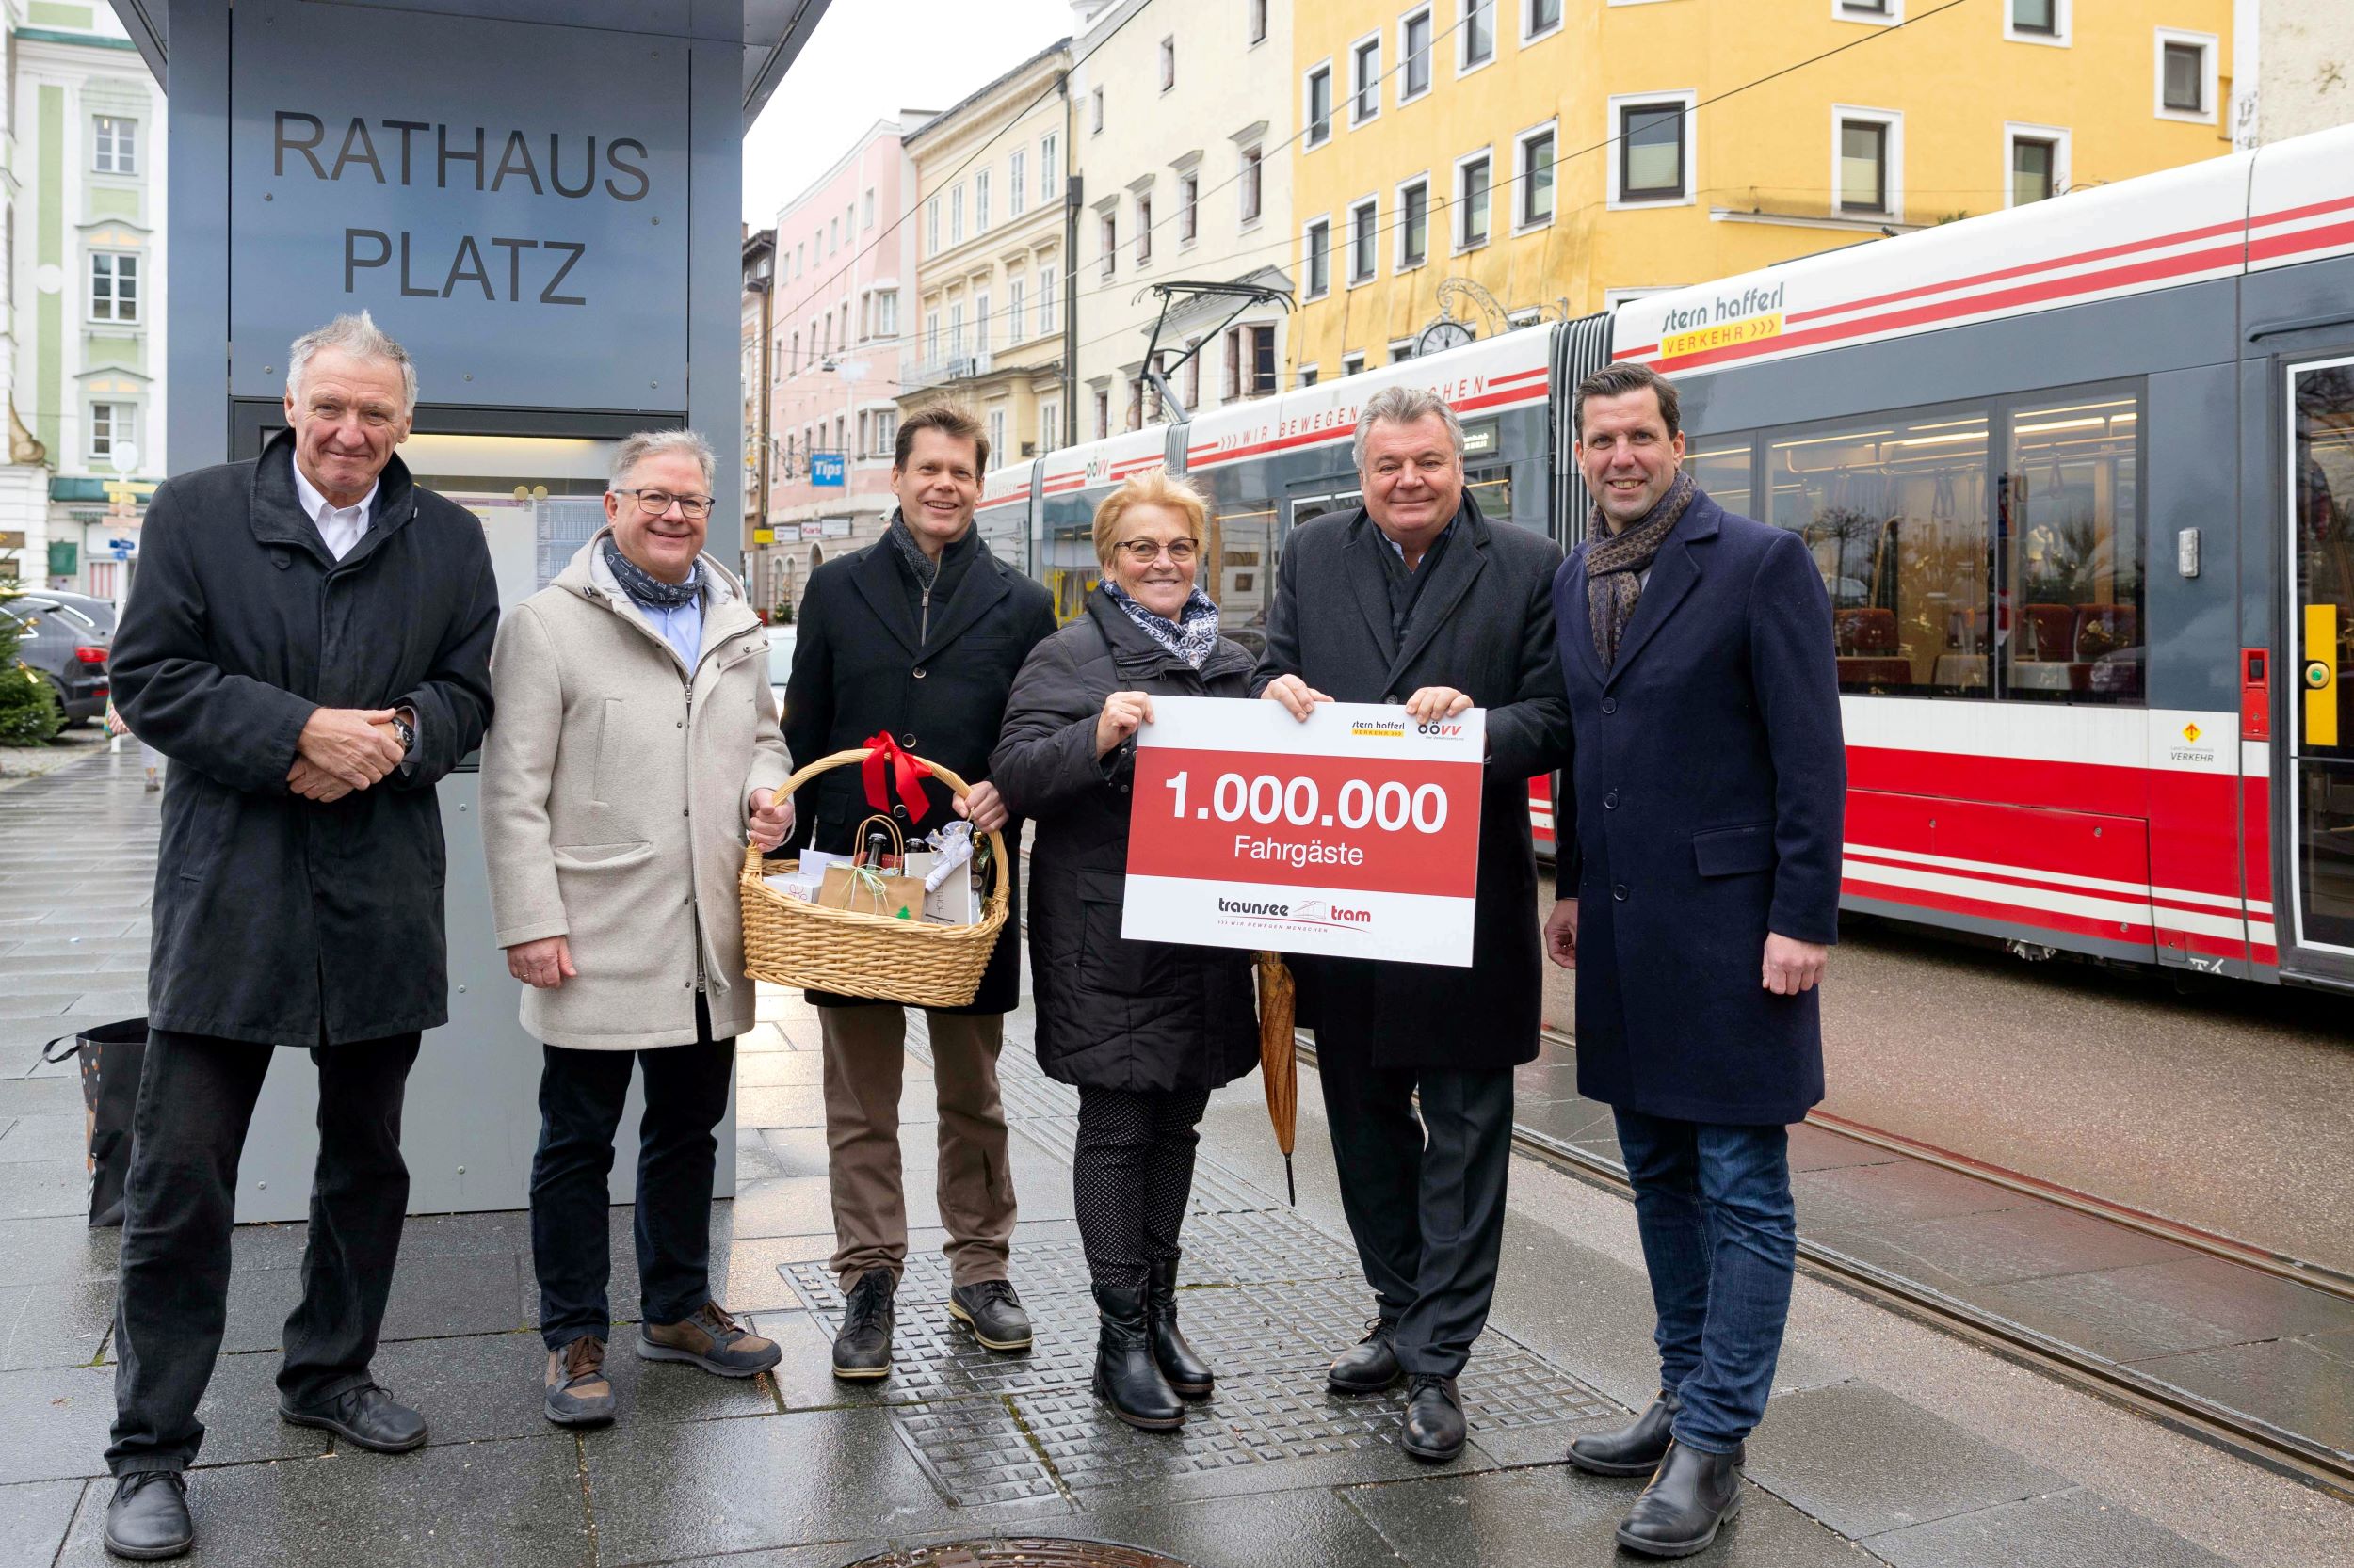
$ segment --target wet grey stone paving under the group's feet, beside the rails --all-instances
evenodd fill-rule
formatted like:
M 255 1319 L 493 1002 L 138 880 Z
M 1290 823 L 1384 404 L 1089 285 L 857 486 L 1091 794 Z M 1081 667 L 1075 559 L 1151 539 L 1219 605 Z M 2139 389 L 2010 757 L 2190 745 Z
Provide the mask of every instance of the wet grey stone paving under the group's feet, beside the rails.
M 94 758 L 0 796 L 0 1568 L 101 1563 L 99 1450 L 113 1410 L 115 1234 L 82 1224 L 71 1069 L 40 1041 L 139 1010 L 153 805 L 137 758 Z M 920 1031 L 918 1031 L 920 1034 Z M 1474 1443 L 1422 1467 L 1394 1401 L 1335 1398 L 1321 1363 L 1370 1309 L 1332 1189 L 1314 1071 L 1299 1208 L 1255 1078 L 1203 1128 L 1184 1318 L 1219 1391 L 1177 1436 L 1135 1434 L 1085 1391 L 1092 1323 L 1071 1224 L 1073 1099 L 1008 1024 L 1022 1194 L 1015 1283 L 1038 1318 L 1022 1358 L 979 1351 L 942 1309 L 930 1071 L 902 1102 L 913 1257 L 899 1370 L 829 1375 L 838 1307 L 817 1029 L 763 998 L 739 1059 L 739 1194 L 713 1205 L 720 1295 L 784 1349 L 723 1382 L 612 1361 L 621 1422 L 539 1415 L 537 1290 L 523 1215 L 407 1229 L 377 1373 L 433 1420 L 405 1457 L 285 1427 L 271 1377 L 304 1227 L 235 1236 L 228 1342 L 205 1403 L 191 1563 L 838 1568 L 937 1540 L 1090 1537 L 1184 1563 L 1608 1563 L 1631 1481 L 1561 1462 L 1565 1441 L 1648 1398 L 1650 1307 L 1629 1205 L 1516 1163 L 1497 1307 L 1464 1377 Z M 614 1307 L 633 1311 L 629 1210 L 612 1210 Z M 2354 1563 L 2354 1507 L 2010 1366 L 1813 1278 L 1798 1281 L 1742 1519 L 1702 1563 L 2189 1568 Z M 1617 1559 L 1631 1561 L 1631 1559 Z

